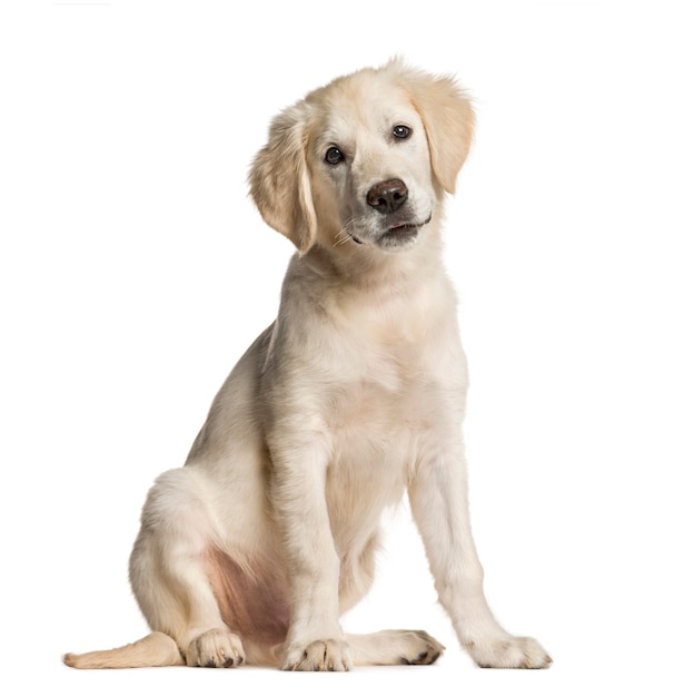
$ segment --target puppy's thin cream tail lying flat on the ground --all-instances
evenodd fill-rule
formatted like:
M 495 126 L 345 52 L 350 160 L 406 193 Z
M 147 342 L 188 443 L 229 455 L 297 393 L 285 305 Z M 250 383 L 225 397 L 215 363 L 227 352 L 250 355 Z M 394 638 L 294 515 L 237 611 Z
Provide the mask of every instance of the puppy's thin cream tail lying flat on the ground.
M 63 662 L 71 668 L 151 668 L 184 666 L 178 645 L 166 634 L 153 631 L 147 637 L 108 651 L 66 654 Z

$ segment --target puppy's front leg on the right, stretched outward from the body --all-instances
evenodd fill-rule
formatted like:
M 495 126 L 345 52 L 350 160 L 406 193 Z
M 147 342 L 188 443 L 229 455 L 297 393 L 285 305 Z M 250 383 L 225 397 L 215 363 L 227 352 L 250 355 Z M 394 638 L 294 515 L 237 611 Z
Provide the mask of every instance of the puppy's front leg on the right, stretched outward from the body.
M 449 395 L 446 431 L 428 443 L 409 483 L 409 501 L 422 533 L 440 603 L 460 644 L 485 668 L 546 668 L 552 659 L 535 640 L 506 632 L 487 605 L 468 516 L 462 435 L 464 394 Z

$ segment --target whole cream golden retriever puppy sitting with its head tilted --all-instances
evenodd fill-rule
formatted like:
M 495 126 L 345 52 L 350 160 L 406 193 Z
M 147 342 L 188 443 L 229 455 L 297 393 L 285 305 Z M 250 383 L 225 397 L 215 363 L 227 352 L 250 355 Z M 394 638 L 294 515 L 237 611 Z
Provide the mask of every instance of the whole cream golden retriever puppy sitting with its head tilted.
M 130 580 L 152 634 L 77 668 L 348 670 L 430 664 L 424 631 L 346 635 L 383 511 L 407 491 L 439 601 L 479 666 L 543 668 L 494 619 L 468 520 L 467 386 L 445 275 L 443 198 L 472 139 L 455 82 L 394 60 L 283 111 L 250 170 L 297 247 L 278 317 L 215 397 L 142 511 Z

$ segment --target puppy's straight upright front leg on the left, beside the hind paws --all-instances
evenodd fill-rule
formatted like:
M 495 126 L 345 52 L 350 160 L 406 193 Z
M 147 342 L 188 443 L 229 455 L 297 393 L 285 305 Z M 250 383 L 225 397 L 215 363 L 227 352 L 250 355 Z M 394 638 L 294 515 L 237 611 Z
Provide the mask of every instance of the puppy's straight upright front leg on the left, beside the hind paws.
M 270 449 L 269 482 L 290 595 L 283 668 L 348 670 L 351 659 L 339 626 L 339 559 L 325 495 L 327 449 L 316 433 L 301 444 L 290 445 L 287 435 L 283 440 Z

